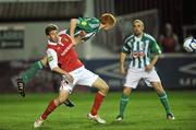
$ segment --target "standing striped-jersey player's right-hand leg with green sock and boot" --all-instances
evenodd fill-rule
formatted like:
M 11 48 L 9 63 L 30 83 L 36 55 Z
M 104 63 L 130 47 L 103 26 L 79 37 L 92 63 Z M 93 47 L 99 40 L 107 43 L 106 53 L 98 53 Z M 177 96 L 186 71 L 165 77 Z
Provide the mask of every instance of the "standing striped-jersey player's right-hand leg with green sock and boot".
M 160 98 L 160 102 L 163 105 L 164 110 L 167 113 L 167 118 L 173 120 L 174 116 L 173 116 L 173 114 L 171 111 L 171 108 L 170 108 L 170 105 L 169 105 L 169 102 L 168 102 L 168 96 L 167 96 L 167 93 L 164 92 L 164 90 L 162 87 L 161 82 L 151 82 L 151 85 L 157 91 L 157 94 L 158 94 L 158 96 Z

